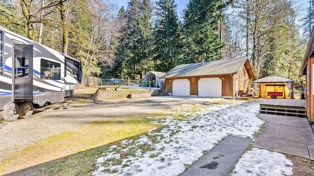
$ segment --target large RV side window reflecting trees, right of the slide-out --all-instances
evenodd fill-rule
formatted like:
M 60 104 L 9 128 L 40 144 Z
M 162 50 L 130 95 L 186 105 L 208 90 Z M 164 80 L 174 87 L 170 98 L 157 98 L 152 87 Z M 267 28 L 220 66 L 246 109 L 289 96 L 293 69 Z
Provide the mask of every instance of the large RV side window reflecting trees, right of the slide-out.
M 61 79 L 61 64 L 41 59 L 40 61 L 40 78 L 49 80 Z

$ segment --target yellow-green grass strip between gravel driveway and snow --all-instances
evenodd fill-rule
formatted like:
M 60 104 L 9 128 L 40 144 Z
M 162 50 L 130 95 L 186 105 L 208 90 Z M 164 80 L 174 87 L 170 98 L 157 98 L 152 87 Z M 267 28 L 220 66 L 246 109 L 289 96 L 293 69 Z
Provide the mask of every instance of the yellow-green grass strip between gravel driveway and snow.
M 159 125 L 152 125 L 151 121 L 153 120 L 147 118 L 146 115 L 94 121 L 89 126 L 82 127 L 78 132 L 63 132 L 54 135 L 5 158 L 0 165 L 0 172 L 13 172 L 27 166 L 56 160 L 44 165 L 41 169 L 43 173 L 46 173 L 45 175 L 89 175 L 90 170 L 95 170 L 93 166 L 95 158 L 107 150 L 108 144 L 142 135 L 159 127 Z M 149 146 L 143 146 L 143 149 L 150 150 Z

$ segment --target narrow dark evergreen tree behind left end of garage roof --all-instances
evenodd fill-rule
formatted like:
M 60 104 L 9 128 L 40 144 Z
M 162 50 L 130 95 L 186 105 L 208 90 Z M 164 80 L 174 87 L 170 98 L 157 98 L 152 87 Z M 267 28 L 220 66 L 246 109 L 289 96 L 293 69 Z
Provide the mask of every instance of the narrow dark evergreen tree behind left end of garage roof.
M 174 0 L 156 2 L 155 26 L 156 70 L 167 72 L 180 63 L 182 58 L 182 35 Z

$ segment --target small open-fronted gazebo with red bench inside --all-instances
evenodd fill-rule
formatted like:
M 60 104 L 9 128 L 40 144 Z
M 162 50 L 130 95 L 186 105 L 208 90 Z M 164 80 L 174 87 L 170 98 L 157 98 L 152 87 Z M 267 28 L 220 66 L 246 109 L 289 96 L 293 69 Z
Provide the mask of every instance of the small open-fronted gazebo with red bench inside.
M 293 81 L 278 76 L 270 76 L 253 81 L 254 92 L 259 88 L 261 98 L 293 99 Z

